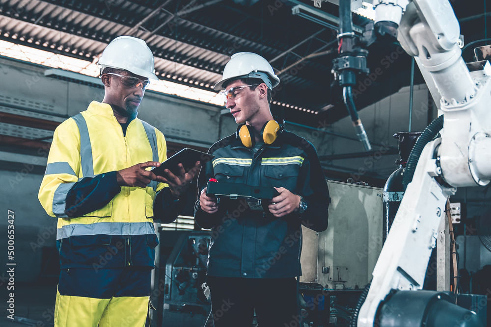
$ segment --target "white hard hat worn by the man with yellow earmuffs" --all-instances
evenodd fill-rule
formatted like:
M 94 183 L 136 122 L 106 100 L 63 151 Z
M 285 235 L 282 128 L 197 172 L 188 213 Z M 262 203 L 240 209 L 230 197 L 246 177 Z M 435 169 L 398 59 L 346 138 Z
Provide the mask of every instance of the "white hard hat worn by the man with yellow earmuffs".
M 223 84 L 241 78 L 260 78 L 270 89 L 279 84 L 279 77 L 274 74 L 273 67 L 266 59 L 256 53 L 239 52 L 232 55 L 225 65 L 221 80 L 213 89 L 225 90 Z

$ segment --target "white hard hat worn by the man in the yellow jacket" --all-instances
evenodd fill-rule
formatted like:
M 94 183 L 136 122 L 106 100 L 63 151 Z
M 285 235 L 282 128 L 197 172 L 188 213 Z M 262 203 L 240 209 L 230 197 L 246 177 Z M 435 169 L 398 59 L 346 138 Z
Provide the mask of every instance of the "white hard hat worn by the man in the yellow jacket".
M 101 72 L 106 67 L 124 69 L 133 74 L 158 80 L 154 56 L 145 41 L 133 36 L 119 36 L 109 43 L 97 62 Z

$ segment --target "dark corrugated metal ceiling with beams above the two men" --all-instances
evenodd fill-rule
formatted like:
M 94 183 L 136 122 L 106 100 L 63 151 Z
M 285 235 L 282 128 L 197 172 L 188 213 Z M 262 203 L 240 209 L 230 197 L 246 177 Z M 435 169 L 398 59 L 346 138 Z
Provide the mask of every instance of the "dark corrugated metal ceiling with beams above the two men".
M 246 6 L 230 0 L 0 0 L 0 39 L 92 62 L 112 39 L 132 35 L 152 49 L 162 79 L 186 85 L 190 84 L 185 79 L 193 80 L 198 82 L 195 87 L 207 90 L 235 52 L 259 53 L 280 72 L 309 54 L 331 50 L 280 74 L 281 89 L 273 100 L 314 110 L 332 103 L 333 108 L 319 116 L 327 121 L 345 116 L 341 93 L 331 88 L 336 33 L 292 15 L 285 1 L 261 0 Z M 323 3 L 322 10 L 337 15 L 332 3 Z M 357 25 L 368 22 L 356 15 L 354 19 Z M 370 49 L 371 62 L 377 63 L 390 47 L 394 45 Z M 390 89 L 391 79 L 407 66 L 401 61 L 403 68 L 394 65 L 377 83 L 388 83 Z M 378 90 L 380 94 L 371 95 L 373 101 L 387 93 L 382 87 Z M 318 125 L 320 117 L 279 108 L 272 106 L 287 120 Z

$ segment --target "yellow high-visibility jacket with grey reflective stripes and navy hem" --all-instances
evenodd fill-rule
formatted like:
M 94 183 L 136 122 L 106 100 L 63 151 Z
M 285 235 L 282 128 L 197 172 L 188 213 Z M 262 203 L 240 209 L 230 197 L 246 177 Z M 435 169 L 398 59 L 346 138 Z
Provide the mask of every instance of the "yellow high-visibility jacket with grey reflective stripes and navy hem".
M 135 118 L 123 136 L 106 103 L 92 101 L 86 111 L 56 128 L 38 198 L 49 215 L 58 217 L 56 241 L 62 269 L 153 266 L 158 244 L 153 202 L 167 184 L 152 181 L 144 189 L 119 188 L 115 171 L 166 159 L 162 132 Z M 109 203 L 77 215 L 78 206 L 94 201 L 77 199 L 67 207 L 70 189 L 81 183 L 92 184 L 99 192 L 107 187 L 112 192 Z

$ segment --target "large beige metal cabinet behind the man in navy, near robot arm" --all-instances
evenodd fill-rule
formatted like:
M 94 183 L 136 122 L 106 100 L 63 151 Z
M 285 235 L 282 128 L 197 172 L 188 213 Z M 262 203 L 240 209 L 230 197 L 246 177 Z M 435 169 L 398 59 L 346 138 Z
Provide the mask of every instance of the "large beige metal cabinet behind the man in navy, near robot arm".
M 329 180 L 327 185 L 327 230 L 302 226 L 300 282 L 325 289 L 364 288 L 382 250 L 383 190 Z

